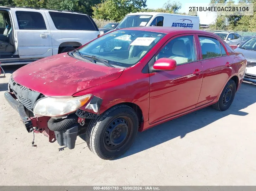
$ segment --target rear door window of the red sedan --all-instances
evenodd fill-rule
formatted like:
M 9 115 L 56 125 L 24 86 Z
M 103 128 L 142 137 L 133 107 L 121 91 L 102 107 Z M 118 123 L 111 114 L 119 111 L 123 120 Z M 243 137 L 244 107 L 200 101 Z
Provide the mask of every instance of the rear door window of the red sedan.
M 218 40 L 208 37 L 199 37 L 203 59 L 221 56 L 220 43 Z

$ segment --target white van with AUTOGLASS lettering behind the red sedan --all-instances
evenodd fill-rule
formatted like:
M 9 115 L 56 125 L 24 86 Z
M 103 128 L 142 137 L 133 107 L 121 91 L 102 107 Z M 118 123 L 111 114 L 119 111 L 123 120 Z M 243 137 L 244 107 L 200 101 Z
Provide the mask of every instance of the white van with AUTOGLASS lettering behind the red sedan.
M 158 12 L 130 13 L 125 16 L 125 18 L 118 24 L 116 29 L 145 26 L 182 27 L 198 30 L 199 17 Z

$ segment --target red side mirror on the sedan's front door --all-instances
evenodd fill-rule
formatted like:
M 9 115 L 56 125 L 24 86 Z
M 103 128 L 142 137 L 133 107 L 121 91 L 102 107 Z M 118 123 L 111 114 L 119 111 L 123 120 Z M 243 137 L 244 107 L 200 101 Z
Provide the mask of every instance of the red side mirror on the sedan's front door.
M 153 65 L 154 70 L 175 70 L 176 68 L 176 60 L 174 59 L 168 59 L 168 58 L 160 58 L 157 61 L 155 61 Z

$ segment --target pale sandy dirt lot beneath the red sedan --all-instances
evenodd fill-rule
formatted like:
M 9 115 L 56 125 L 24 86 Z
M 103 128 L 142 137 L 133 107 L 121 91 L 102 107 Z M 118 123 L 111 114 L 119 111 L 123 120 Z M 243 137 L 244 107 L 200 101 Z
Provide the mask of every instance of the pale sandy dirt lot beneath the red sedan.
M 23 126 L 0 78 L 0 185 L 256 185 L 256 86 L 243 83 L 231 107 L 211 107 L 138 133 L 113 161 L 96 157 L 84 136 L 59 151 Z

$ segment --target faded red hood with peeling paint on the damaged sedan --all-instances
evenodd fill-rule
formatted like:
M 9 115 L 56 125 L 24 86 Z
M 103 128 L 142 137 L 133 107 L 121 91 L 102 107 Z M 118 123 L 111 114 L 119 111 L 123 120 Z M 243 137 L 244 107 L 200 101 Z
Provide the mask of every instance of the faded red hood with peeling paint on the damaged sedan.
M 63 53 L 25 65 L 12 77 L 16 83 L 45 96 L 71 96 L 115 80 L 123 70 L 81 61 Z

